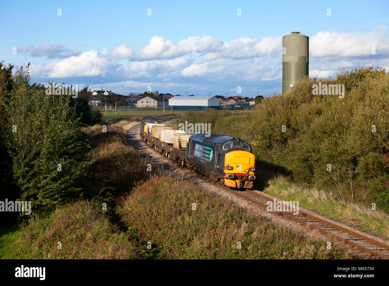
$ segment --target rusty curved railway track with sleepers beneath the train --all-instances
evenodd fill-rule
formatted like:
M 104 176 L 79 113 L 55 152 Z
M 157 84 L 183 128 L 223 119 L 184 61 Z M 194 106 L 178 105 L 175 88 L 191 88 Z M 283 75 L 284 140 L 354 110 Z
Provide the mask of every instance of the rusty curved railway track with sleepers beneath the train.
M 175 118 L 166 118 L 158 120 L 160 123 L 170 121 Z M 143 141 L 142 141 L 143 142 Z M 147 142 L 143 142 L 145 145 L 147 145 Z M 147 145 L 148 146 L 148 145 Z M 149 146 L 150 147 L 150 146 Z M 152 149 L 150 147 L 150 149 Z M 158 151 L 152 149 L 155 153 L 161 154 Z M 161 154 L 163 155 L 163 154 Z M 165 156 L 166 157 L 166 156 Z M 167 158 L 167 157 L 166 157 Z M 174 162 L 173 160 L 171 160 Z M 266 205 L 266 202 L 270 201 L 271 199 L 269 197 L 266 197 L 265 195 L 262 195 L 261 193 L 257 193 L 256 191 L 252 191 L 249 189 L 246 189 L 245 191 L 236 191 L 231 188 L 227 188 L 221 184 L 218 184 L 217 182 L 214 182 L 210 180 L 209 178 L 200 175 L 193 170 L 189 170 L 185 167 L 182 167 L 179 163 L 174 162 L 176 165 L 178 165 L 180 168 L 184 168 L 185 170 L 192 172 L 196 176 L 209 181 L 212 184 L 217 185 L 219 188 L 223 188 L 226 191 L 233 193 L 239 197 L 244 198 L 245 200 L 248 200 L 256 205 L 259 205 L 261 207 L 267 208 L 268 205 Z M 281 201 L 282 204 L 284 204 L 283 200 L 277 199 L 276 202 Z M 293 212 L 284 212 L 284 211 L 275 211 L 272 212 L 274 214 L 283 216 L 286 219 L 296 221 L 302 225 L 308 226 L 309 228 L 313 230 L 317 230 L 325 235 L 331 235 L 334 237 L 335 240 L 345 242 L 349 244 L 352 247 L 355 247 L 361 251 L 364 251 L 366 253 L 372 254 L 380 259 L 389 259 L 389 246 L 379 242 L 375 239 L 371 239 L 370 237 L 367 237 L 365 235 L 361 235 L 359 233 L 353 232 L 351 230 L 348 230 L 346 228 L 343 228 L 342 226 L 336 225 L 334 223 L 331 223 L 329 221 L 326 221 L 325 219 L 318 218 L 312 214 L 308 214 L 304 211 L 299 210 L 299 213 L 297 215 L 293 214 Z

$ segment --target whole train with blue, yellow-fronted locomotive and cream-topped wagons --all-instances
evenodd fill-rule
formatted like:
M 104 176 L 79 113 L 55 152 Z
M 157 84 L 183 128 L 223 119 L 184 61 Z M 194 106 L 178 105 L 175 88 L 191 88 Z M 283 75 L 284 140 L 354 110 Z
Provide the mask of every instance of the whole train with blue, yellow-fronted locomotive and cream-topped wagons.
M 182 144 L 176 142 L 173 144 L 171 137 L 168 140 L 160 138 L 154 135 L 159 134 L 154 130 L 152 136 L 150 127 L 153 125 L 154 128 L 163 128 L 155 118 L 142 119 L 140 136 L 159 153 L 221 185 L 231 188 L 252 187 L 256 179 L 255 156 L 252 154 L 251 146 L 244 140 L 215 133 L 198 132 L 188 135 Z M 173 133 L 173 130 L 169 131 Z M 180 134 L 177 133 L 175 136 L 178 138 Z

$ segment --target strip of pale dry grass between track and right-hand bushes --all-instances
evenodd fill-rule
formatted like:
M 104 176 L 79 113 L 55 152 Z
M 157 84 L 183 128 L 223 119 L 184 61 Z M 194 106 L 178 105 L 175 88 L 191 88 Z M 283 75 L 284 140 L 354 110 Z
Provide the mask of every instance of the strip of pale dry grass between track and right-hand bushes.
M 270 186 L 265 189 L 266 193 L 288 201 L 299 201 L 302 207 L 318 211 L 350 226 L 357 226 L 363 231 L 389 238 L 389 214 L 385 211 L 374 211 L 368 204 L 345 202 L 331 193 L 316 188 L 301 187 L 283 175 L 278 175 L 269 183 Z

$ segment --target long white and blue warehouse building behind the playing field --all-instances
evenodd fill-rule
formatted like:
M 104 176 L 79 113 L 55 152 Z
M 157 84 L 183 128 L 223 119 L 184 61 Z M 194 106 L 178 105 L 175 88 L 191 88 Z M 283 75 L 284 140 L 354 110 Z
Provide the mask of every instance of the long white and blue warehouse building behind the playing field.
M 204 110 L 207 108 L 220 109 L 220 101 L 219 98 L 211 96 L 175 96 L 169 99 L 169 106 L 172 107 L 172 109 L 180 110 Z

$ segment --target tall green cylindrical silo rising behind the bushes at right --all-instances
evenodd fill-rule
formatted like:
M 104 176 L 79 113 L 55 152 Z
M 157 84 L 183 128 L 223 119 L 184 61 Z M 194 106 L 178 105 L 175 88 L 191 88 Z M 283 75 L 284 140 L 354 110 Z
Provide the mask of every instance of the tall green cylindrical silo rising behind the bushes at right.
M 292 32 L 282 37 L 282 93 L 308 75 L 309 37 Z

